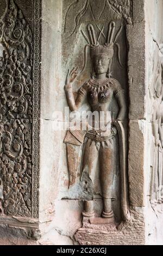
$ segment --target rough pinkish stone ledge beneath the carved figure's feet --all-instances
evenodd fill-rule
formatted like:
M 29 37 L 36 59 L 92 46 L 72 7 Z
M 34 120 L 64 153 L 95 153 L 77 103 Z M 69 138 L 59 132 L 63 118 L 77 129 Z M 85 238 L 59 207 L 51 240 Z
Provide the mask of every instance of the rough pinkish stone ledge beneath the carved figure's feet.
M 93 225 L 83 220 L 83 227 L 75 234 L 80 245 L 144 245 L 143 214 L 131 210 L 130 221 Z

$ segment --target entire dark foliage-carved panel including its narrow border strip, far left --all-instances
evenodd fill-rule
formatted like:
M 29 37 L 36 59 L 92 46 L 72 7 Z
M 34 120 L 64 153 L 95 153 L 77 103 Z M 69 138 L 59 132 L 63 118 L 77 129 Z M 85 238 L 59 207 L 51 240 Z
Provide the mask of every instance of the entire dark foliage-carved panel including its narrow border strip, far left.
M 31 1 L 34 30 L 18 1 L 0 2 L 5 2 L 0 17 L 1 209 L 4 215 L 37 218 L 40 0 Z

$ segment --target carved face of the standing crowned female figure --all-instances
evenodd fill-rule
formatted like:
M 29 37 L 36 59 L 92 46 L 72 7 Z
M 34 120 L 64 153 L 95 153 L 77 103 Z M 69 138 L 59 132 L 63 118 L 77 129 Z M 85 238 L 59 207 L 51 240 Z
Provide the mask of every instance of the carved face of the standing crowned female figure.
M 93 68 L 96 74 L 104 74 L 108 71 L 110 58 L 105 54 L 96 54 L 92 59 Z

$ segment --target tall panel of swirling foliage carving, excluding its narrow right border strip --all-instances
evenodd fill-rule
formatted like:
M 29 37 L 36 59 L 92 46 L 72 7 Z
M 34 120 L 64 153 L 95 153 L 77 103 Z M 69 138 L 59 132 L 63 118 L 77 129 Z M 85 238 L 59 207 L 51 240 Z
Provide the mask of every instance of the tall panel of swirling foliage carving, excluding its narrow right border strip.
M 8 1 L 0 22 L 0 178 L 4 214 L 31 216 L 32 32 L 22 11 Z

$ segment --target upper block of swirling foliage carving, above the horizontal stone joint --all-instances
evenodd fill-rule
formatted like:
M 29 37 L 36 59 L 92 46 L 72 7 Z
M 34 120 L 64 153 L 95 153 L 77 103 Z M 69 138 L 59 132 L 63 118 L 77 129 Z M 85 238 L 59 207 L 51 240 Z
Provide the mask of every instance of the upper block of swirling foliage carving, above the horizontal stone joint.
M 4 23 L 3 23 L 4 22 Z M 32 118 L 32 32 L 13 1 L 1 22 L 1 120 Z

